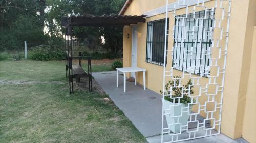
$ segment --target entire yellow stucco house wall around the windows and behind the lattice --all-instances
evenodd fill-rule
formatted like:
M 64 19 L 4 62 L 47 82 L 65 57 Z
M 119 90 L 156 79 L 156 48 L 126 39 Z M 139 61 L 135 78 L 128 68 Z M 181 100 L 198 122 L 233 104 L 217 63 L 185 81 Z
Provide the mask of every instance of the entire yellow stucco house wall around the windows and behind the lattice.
M 169 1 L 170 2 L 170 1 Z M 256 140 L 256 127 L 252 128 L 250 124 L 253 124 L 252 120 L 255 118 L 248 117 L 250 112 L 256 112 L 255 106 L 250 104 L 256 102 L 255 91 L 251 90 L 252 87 L 256 88 L 255 73 L 250 71 L 250 67 L 253 62 L 250 62 L 253 53 L 252 47 L 252 36 L 253 27 L 255 25 L 255 0 L 232 0 L 232 13 L 230 17 L 230 31 L 229 31 L 229 46 L 227 55 L 227 66 L 226 66 L 226 78 L 225 78 L 225 89 L 223 98 L 223 109 L 222 109 L 222 125 L 221 132 L 231 138 L 248 138 L 250 141 Z M 210 6 L 213 1 L 207 2 L 206 5 Z M 165 5 L 165 1 L 145 1 L 145 0 L 134 0 L 130 7 L 124 13 L 125 15 L 140 15 L 146 11 L 161 7 Z M 249 11 L 251 6 L 251 11 Z M 227 6 L 226 6 L 227 7 Z M 184 9 L 177 11 L 179 14 L 184 14 Z M 248 14 L 249 13 L 249 14 Z M 253 14 L 251 14 L 253 13 Z M 254 16 L 254 17 L 253 17 Z M 146 22 L 163 19 L 164 14 L 156 15 L 150 18 L 146 18 Z M 252 21 L 254 25 L 252 26 Z M 225 22 L 222 23 L 225 27 Z M 169 27 L 173 27 L 174 19 L 170 18 Z M 159 93 L 162 90 L 163 82 L 163 67 L 145 62 L 146 56 L 146 36 L 147 36 L 147 24 L 140 23 L 138 27 L 138 51 L 137 51 L 137 66 L 147 69 L 146 73 L 146 87 Z M 129 29 L 129 31 L 127 31 Z M 126 38 L 126 33 L 130 32 L 130 39 Z M 131 66 L 131 26 L 124 28 L 124 66 Z M 126 38 L 126 39 L 125 39 Z M 224 48 L 225 40 L 221 43 Z M 168 39 L 169 50 L 173 45 L 173 39 Z M 254 46 L 255 47 L 255 46 Z M 246 48 L 246 49 L 245 49 Z M 254 49 L 255 50 L 255 49 Z M 255 52 L 254 52 L 255 53 Z M 129 54 L 129 55 L 126 55 Z M 249 56 L 248 56 L 249 54 Z M 255 55 L 254 55 L 255 56 Z M 168 59 L 167 67 L 170 67 L 171 59 Z M 253 61 L 253 60 L 252 60 Z M 254 63 L 255 66 L 255 63 Z M 249 74 L 250 72 L 250 74 Z M 255 72 L 255 70 L 254 70 Z M 180 71 L 175 71 L 175 75 L 181 75 Z M 130 75 L 129 75 L 130 76 Z M 137 74 L 138 82 L 142 84 L 142 74 Z M 254 78 L 254 80 L 252 79 Z M 187 80 L 188 78 L 185 78 Z M 207 78 L 202 78 L 200 83 L 205 85 L 208 82 Z M 221 77 L 218 80 L 221 83 Z M 247 88 L 248 85 L 248 88 Z M 251 87 L 249 87 L 249 85 Z M 250 89 L 250 90 L 249 90 Z M 248 96 L 250 95 L 250 96 Z M 253 95 L 253 96 L 252 96 Z M 253 98 L 254 102 L 248 101 L 247 98 Z M 220 102 L 220 96 L 217 96 L 216 100 Z M 204 104 L 206 96 L 202 94 L 199 102 Z M 252 99 L 253 100 L 253 99 Z M 250 107 L 254 107 L 250 109 Z M 244 115 L 245 114 L 245 115 Z M 202 116 L 205 116 L 204 112 L 201 112 Z M 218 119 L 219 111 L 214 115 Z M 254 116 L 255 117 L 255 116 Z M 250 123 L 247 123 L 250 121 Z M 246 124 L 246 123 L 247 124 Z M 243 126 L 244 124 L 244 126 Z M 255 123 L 254 123 L 255 125 Z M 253 130 L 254 129 L 254 130 Z M 252 138 L 252 139 L 251 139 Z

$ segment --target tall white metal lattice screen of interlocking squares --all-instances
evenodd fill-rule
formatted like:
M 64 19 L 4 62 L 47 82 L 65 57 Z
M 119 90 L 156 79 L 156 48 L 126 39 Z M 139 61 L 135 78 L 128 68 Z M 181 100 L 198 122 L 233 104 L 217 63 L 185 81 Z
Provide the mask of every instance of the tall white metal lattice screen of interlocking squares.
M 195 0 L 196 1 L 196 0 Z M 178 45 L 177 42 L 174 43 L 174 47 L 172 48 L 172 53 L 170 54 L 170 50 L 166 49 L 167 48 L 167 34 L 172 35 L 173 39 L 178 38 L 174 34 L 174 29 L 176 26 L 179 26 L 180 28 L 183 28 L 184 31 L 187 30 L 186 28 L 186 22 L 184 22 L 184 19 L 187 18 L 187 15 L 194 14 L 197 11 L 196 9 L 203 9 L 205 10 L 205 15 L 207 14 L 207 11 L 211 11 L 211 14 L 208 15 L 211 17 L 212 20 L 212 28 L 209 31 L 209 35 L 206 35 L 209 39 L 211 39 L 212 44 L 208 48 L 208 55 L 209 55 L 209 71 L 216 69 L 217 73 L 210 73 L 207 77 L 208 83 L 206 84 L 200 84 L 200 79 L 205 78 L 202 75 L 202 71 L 200 72 L 201 75 L 198 76 L 192 76 L 191 72 L 190 73 L 185 73 L 184 71 L 182 72 L 182 76 L 178 78 L 179 81 L 181 81 L 185 76 L 189 77 L 192 80 L 192 84 L 190 86 L 193 86 L 194 88 L 199 89 L 198 95 L 190 95 L 190 92 L 186 93 L 186 96 L 189 96 L 191 98 L 191 103 L 188 104 L 188 107 L 182 107 L 181 108 L 181 113 L 178 116 L 172 116 L 172 118 L 177 119 L 176 121 L 174 120 L 174 123 L 170 125 L 180 125 L 180 132 L 179 133 L 172 133 L 170 132 L 170 129 L 168 127 L 164 127 L 164 118 L 167 115 L 165 113 L 166 110 L 164 110 L 164 102 L 162 106 L 162 137 L 161 137 L 161 142 L 178 142 L 178 141 L 185 141 L 185 140 L 190 140 L 190 139 L 196 139 L 196 138 L 202 138 L 202 137 L 207 137 L 207 136 L 212 136 L 212 135 L 217 135 L 220 134 L 220 127 L 221 127 L 221 112 L 222 112 L 222 100 L 223 100 L 223 90 L 224 90 L 224 80 L 225 80 L 225 69 L 226 69 L 226 59 L 227 59 L 227 47 L 228 47 L 228 34 L 229 34 L 229 21 L 230 21 L 230 14 L 231 14 L 231 0 L 212 0 L 215 1 L 214 5 L 211 7 L 207 7 L 205 5 L 206 2 L 209 0 L 197 0 L 197 3 L 193 2 L 196 4 L 193 9 L 191 9 L 193 12 L 189 12 L 189 7 L 191 6 L 191 0 L 177 0 L 177 2 L 169 4 L 168 0 L 166 0 L 166 7 L 165 7 L 165 17 L 166 21 L 170 17 L 169 14 L 171 13 L 170 11 L 173 11 L 173 18 L 180 18 L 182 20 L 182 25 L 178 25 L 177 23 L 174 24 L 173 31 L 167 29 L 167 22 L 165 24 L 165 52 L 164 52 L 164 71 L 163 71 L 163 97 L 162 101 L 164 101 L 165 96 L 169 96 L 172 99 L 175 99 L 172 97 L 172 88 L 179 88 L 183 87 L 181 85 L 176 86 L 176 87 L 170 87 L 170 89 L 166 90 L 165 89 L 165 83 L 168 80 L 176 80 L 174 78 L 174 68 L 176 67 L 176 64 L 174 64 L 173 67 L 166 67 L 166 60 L 168 59 L 168 63 L 174 61 L 183 61 L 184 59 L 174 59 L 174 47 Z M 225 4 L 225 7 L 224 7 Z M 176 10 L 177 9 L 185 9 L 185 17 L 178 17 Z M 219 17 L 217 17 L 214 13 L 216 11 L 219 11 Z M 195 16 L 193 16 L 194 19 L 196 19 Z M 206 19 L 206 16 L 204 18 L 198 18 L 196 19 L 197 22 L 200 22 L 201 20 Z M 222 22 L 224 21 L 224 22 Z M 227 23 L 227 24 L 222 24 L 222 23 Z M 200 28 L 202 33 L 205 33 L 205 27 L 203 24 L 199 24 L 200 26 L 196 28 Z M 171 34 L 171 32 L 173 32 Z M 186 32 L 185 32 L 186 34 Z M 187 36 L 182 36 L 181 34 L 179 40 L 181 41 L 181 45 L 184 42 L 184 39 L 187 38 Z M 193 36 L 193 35 L 192 35 Z M 195 37 L 193 36 L 195 39 Z M 205 37 L 197 37 L 195 40 L 199 41 L 199 43 L 202 42 L 202 40 Z M 220 42 L 224 41 L 225 42 L 225 47 L 220 46 Z M 224 43 L 222 42 L 222 43 Z M 184 49 L 185 50 L 185 49 Z M 191 47 L 191 51 L 193 50 L 193 47 Z M 214 52 L 214 53 L 212 53 Z M 223 62 L 223 63 L 222 63 Z M 170 64 L 169 64 L 170 65 Z M 169 66 L 168 65 L 168 66 Z M 200 66 L 200 65 L 199 65 Z M 170 68 L 170 69 L 169 69 Z M 191 67 L 190 67 L 191 68 Z M 202 69 L 202 68 L 201 68 Z M 218 81 L 221 81 L 218 82 Z M 175 83 L 174 83 L 175 84 Z M 172 106 L 180 106 L 180 98 L 182 98 L 184 95 L 184 91 L 190 90 L 189 89 L 184 89 L 182 88 L 182 96 L 181 97 L 176 97 L 178 99 L 178 103 L 174 104 Z M 201 104 L 199 102 L 199 98 L 203 96 L 204 94 L 206 96 L 206 101 L 204 104 Z M 220 96 L 220 101 L 217 101 L 216 96 Z M 194 101 L 193 101 L 194 99 Z M 197 112 L 189 112 L 189 107 L 193 105 L 198 105 L 198 110 Z M 207 108 L 208 106 L 213 106 L 213 109 L 209 110 Z M 217 110 L 219 110 L 217 112 Z M 205 119 L 202 123 L 200 123 L 197 120 L 197 116 L 200 114 L 200 112 L 203 111 L 205 112 Z M 188 112 L 189 115 L 189 120 L 186 125 L 181 125 L 179 122 L 179 119 L 181 115 L 185 112 Z M 219 113 L 219 118 L 215 118 L 214 113 Z M 197 124 L 196 128 L 193 131 L 188 130 L 189 124 L 194 123 Z M 206 127 L 207 123 L 211 123 L 210 127 Z M 217 129 L 217 131 L 215 131 Z M 186 132 L 182 132 L 186 131 Z M 201 132 L 200 134 L 198 134 Z M 204 132 L 202 134 L 202 132 Z M 166 139 L 163 140 L 163 136 L 168 135 L 169 138 L 167 137 Z M 165 137 L 166 138 L 166 137 Z

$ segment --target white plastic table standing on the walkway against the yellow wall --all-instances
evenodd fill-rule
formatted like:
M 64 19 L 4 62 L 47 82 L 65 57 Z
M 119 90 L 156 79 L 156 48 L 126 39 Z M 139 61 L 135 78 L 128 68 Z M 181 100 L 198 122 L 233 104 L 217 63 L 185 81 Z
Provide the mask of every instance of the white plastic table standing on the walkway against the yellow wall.
M 126 68 L 116 68 L 116 87 L 118 88 L 118 71 L 123 73 L 123 92 L 126 91 L 126 73 L 134 72 L 134 79 L 136 85 L 136 72 L 143 72 L 143 86 L 146 90 L 146 70 L 138 67 L 126 67 Z

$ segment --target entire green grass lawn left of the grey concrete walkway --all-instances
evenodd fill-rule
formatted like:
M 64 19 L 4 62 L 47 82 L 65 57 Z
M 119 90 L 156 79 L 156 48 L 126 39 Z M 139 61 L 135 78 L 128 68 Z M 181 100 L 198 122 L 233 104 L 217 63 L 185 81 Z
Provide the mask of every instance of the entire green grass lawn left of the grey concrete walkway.
M 65 81 L 61 62 L 1 61 L 0 80 Z M 101 68 L 99 68 L 101 69 Z M 67 84 L 0 84 L 0 142 L 145 142 L 129 119 Z

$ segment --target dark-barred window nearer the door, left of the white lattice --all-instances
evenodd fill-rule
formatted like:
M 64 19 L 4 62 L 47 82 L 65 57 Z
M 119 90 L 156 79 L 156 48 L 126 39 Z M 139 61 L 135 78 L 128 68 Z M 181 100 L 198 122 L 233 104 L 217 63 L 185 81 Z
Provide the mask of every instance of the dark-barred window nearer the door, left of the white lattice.
M 169 26 L 169 19 L 167 21 Z M 147 22 L 146 62 L 163 66 L 165 19 Z M 167 37 L 168 40 L 168 37 Z M 168 42 L 168 41 L 167 41 Z M 168 45 L 168 44 L 167 44 Z

